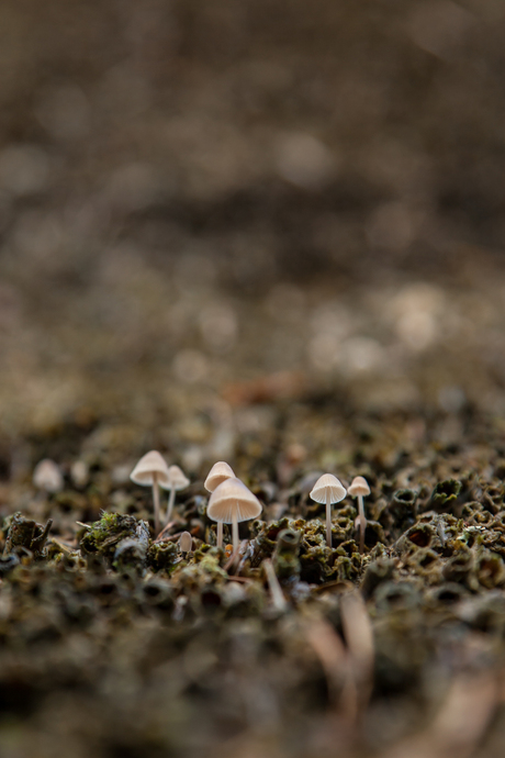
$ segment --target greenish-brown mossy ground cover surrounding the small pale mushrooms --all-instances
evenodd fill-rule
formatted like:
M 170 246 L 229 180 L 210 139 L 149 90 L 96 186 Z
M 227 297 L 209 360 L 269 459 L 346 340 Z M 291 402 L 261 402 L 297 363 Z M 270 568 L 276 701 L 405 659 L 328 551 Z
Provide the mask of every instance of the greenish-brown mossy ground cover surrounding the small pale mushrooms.
M 327 409 L 307 400 L 304 412 L 317 428 Z M 240 525 L 235 561 L 215 546 L 204 469 L 160 539 L 148 490 L 117 481 L 111 453 L 72 481 L 88 434 L 64 464 L 61 492 L 18 486 L 23 511 L 2 527 L 2 745 L 35 758 L 330 756 L 336 745 L 343 756 L 433 755 L 458 745 L 467 724 L 465 748 L 492 755 L 502 744 L 505 448 L 476 412 L 459 442 L 437 443 L 447 419 L 434 416 L 413 443 L 419 417 L 370 419 L 381 432 L 366 438 L 362 416 L 340 420 L 336 472 L 371 487 L 363 555 L 356 501 L 334 508 L 328 547 L 324 505 L 308 498 L 321 469 L 307 461 L 334 453 L 324 436 L 300 441 L 304 461 L 281 480 L 282 433 L 260 460 L 237 455 L 263 512 Z M 193 544 L 182 555 L 184 530 Z

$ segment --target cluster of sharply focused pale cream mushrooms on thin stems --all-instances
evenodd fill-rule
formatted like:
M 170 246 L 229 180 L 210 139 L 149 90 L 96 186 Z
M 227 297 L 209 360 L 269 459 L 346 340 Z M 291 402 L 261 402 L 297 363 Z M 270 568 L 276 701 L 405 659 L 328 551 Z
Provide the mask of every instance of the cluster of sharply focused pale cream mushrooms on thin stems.
M 165 526 L 167 526 L 172 515 L 176 492 L 186 489 L 190 481 L 179 466 L 167 466 L 157 450 L 146 453 L 130 477 L 136 484 L 153 488 L 155 530 L 158 534 L 161 527 L 159 488 L 170 493 L 165 516 Z M 244 482 L 237 479 L 232 467 L 223 460 L 214 464 L 204 487 L 211 493 L 206 514 L 209 519 L 217 522 L 217 547 L 223 546 L 223 524 L 232 524 L 233 553 L 235 554 L 238 550 L 239 522 L 258 519 L 262 505 Z M 367 526 L 363 498 L 370 494 L 367 480 L 363 477 L 355 477 L 349 489 L 346 490 L 337 477 L 333 473 L 324 473 L 314 484 L 311 498 L 317 503 L 326 504 L 326 544 L 332 547 L 332 505 L 344 500 L 347 494 L 358 499 L 359 514 L 356 519 L 356 527 L 359 530 L 359 549 L 363 553 Z M 184 553 L 191 549 L 191 535 L 188 532 L 181 535 L 180 548 Z

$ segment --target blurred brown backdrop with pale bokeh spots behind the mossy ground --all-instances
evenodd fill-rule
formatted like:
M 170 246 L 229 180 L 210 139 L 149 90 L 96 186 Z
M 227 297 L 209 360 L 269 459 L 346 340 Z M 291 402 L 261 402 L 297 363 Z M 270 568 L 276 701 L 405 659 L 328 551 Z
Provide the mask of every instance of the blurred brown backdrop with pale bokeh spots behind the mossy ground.
M 190 444 L 188 409 L 277 398 L 500 416 L 504 35 L 502 0 L 3 0 L 3 444 Z

